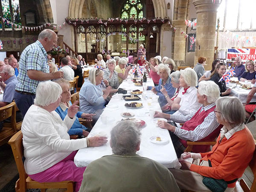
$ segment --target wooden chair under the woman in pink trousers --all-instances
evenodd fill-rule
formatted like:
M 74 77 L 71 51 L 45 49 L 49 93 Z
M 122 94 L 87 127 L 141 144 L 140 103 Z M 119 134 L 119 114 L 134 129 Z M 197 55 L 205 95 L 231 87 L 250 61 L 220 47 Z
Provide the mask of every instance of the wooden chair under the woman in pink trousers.
M 26 189 L 41 189 L 41 192 L 45 192 L 45 189 L 67 189 L 67 192 L 74 191 L 73 181 L 62 181 L 62 182 L 51 182 L 51 183 L 39 183 L 32 180 L 25 172 L 23 163 L 23 135 L 21 131 L 18 131 L 9 140 L 9 145 L 12 147 L 13 156 L 15 157 L 16 166 L 19 172 L 20 178 L 16 181 L 15 191 L 16 192 L 26 192 Z

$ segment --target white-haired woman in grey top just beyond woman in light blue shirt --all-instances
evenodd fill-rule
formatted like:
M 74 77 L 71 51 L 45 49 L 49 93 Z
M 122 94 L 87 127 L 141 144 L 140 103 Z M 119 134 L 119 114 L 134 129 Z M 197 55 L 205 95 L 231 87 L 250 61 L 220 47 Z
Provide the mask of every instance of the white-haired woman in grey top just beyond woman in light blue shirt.
M 116 61 L 114 59 L 110 59 L 108 61 L 108 69 L 104 70 L 103 75 L 103 79 L 107 79 L 109 86 L 111 86 L 113 89 L 117 89 L 119 86 L 118 74 L 115 71 L 115 67 Z

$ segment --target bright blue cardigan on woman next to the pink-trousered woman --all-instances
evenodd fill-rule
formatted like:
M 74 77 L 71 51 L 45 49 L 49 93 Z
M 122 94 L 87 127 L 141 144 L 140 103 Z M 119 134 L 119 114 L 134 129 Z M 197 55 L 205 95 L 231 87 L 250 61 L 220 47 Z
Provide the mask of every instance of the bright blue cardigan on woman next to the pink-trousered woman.
M 71 102 L 70 102 L 70 105 L 72 105 Z M 55 111 L 61 116 L 62 120 L 64 120 L 64 118 L 66 117 L 67 110 L 68 108 L 65 111 L 63 111 L 60 106 L 58 106 L 57 109 L 55 109 Z M 84 125 L 82 125 L 78 119 L 78 118 L 81 118 L 82 113 L 83 112 L 81 111 L 76 113 L 76 120 L 73 123 L 70 130 L 67 132 L 69 135 L 79 135 L 79 137 L 81 137 L 83 135 L 83 129 L 87 130 L 87 128 Z

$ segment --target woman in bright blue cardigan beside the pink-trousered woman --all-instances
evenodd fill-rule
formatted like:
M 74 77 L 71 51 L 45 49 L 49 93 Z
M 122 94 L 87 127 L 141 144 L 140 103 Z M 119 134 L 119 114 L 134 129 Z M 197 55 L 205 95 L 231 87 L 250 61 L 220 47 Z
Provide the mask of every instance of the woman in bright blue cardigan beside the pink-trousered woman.
M 61 102 L 55 111 L 61 116 L 61 119 L 64 120 L 65 117 L 67 116 L 68 108 L 72 105 L 72 103 L 70 102 L 70 99 L 71 99 L 70 84 L 66 79 L 58 79 L 55 82 L 58 83 L 62 88 Z M 80 111 L 77 112 L 76 120 L 67 133 L 69 135 L 79 135 L 79 137 L 84 135 L 86 137 L 89 134 L 88 129 L 84 125 L 80 124 L 78 118 L 92 119 L 92 116 L 94 116 L 94 114 L 83 113 Z

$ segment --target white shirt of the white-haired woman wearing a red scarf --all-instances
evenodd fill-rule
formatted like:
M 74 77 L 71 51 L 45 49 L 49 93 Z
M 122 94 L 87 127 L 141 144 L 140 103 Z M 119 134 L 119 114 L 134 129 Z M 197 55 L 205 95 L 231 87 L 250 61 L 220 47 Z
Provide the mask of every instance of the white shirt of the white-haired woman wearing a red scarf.
M 189 113 L 193 113 L 197 111 L 197 109 L 201 106 L 200 103 L 198 103 L 197 100 L 197 88 L 195 87 L 189 87 L 186 91 L 186 93 L 182 94 L 184 92 L 184 88 L 179 91 L 178 97 L 181 98 L 180 100 L 180 109 L 176 111 L 175 115 L 183 114 L 184 116 L 188 115 Z

